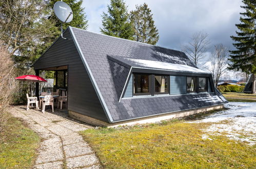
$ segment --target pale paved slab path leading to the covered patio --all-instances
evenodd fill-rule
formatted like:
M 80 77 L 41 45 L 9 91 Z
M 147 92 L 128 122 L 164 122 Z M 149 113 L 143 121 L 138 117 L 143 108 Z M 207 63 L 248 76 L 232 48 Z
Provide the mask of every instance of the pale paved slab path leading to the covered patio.
M 22 118 L 42 138 L 34 168 L 102 168 L 78 133 L 92 126 L 69 118 L 65 112 L 26 111 L 25 106 L 12 107 L 10 112 Z

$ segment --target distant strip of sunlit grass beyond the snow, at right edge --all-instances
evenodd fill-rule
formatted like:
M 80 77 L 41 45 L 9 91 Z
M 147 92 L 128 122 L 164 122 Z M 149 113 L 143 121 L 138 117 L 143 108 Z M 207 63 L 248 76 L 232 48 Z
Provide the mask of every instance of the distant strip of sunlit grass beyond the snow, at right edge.
M 236 93 L 236 92 L 223 92 L 222 94 L 228 101 L 256 102 L 256 94 Z

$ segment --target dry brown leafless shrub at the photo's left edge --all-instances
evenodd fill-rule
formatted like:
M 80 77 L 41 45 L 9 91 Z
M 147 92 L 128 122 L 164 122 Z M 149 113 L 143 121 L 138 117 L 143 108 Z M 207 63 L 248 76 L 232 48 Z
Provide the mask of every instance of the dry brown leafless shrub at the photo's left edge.
M 14 64 L 7 48 L 0 41 L 0 131 L 3 130 L 9 118 L 6 108 L 12 101 L 15 89 Z

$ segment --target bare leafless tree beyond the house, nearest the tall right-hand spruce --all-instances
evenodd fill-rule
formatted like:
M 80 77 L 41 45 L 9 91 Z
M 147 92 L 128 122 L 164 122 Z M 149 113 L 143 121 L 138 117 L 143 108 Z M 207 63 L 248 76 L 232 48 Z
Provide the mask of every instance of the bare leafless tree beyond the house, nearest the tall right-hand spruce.
M 227 70 L 229 51 L 222 44 L 214 46 L 214 51 L 211 55 L 211 67 L 210 72 L 212 73 L 212 78 L 214 80 L 215 87 L 218 84 L 220 77 Z

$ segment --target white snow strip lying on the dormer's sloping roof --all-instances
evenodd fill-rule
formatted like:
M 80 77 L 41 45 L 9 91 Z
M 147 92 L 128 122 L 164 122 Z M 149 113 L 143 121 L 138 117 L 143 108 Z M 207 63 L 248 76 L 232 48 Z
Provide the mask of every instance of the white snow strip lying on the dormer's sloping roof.
M 153 61 L 153 60 L 144 60 L 144 59 L 133 59 L 133 58 L 125 58 L 125 59 L 130 60 L 133 62 L 133 64 L 141 67 L 167 69 L 167 70 L 174 70 L 174 71 L 209 73 L 209 72 L 206 72 L 191 66 L 187 66 L 187 65 L 171 64 L 163 61 Z

